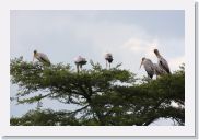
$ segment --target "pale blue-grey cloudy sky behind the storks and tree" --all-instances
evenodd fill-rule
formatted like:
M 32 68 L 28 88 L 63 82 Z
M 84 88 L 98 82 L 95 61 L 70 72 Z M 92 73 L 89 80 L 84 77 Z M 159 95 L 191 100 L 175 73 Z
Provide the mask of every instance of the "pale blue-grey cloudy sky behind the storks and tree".
M 138 77 L 142 57 L 156 62 L 157 48 L 172 71 L 185 62 L 185 15 L 179 10 L 109 10 L 109 11 L 11 11 L 11 59 L 23 56 L 32 61 L 33 51 L 44 52 L 52 63 L 70 63 L 81 55 L 105 67 L 104 54 L 112 52 L 113 66 Z M 90 69 L 91 65 L 84 66 Z M 17 86 L 11 85 L 11 96 Z M 45 106 L 63 107 L 45 101 Z M 21 116 L 36 105 L 11 103 L 11 116 Z M 56 109 L 55 107 L 55 109 Z

